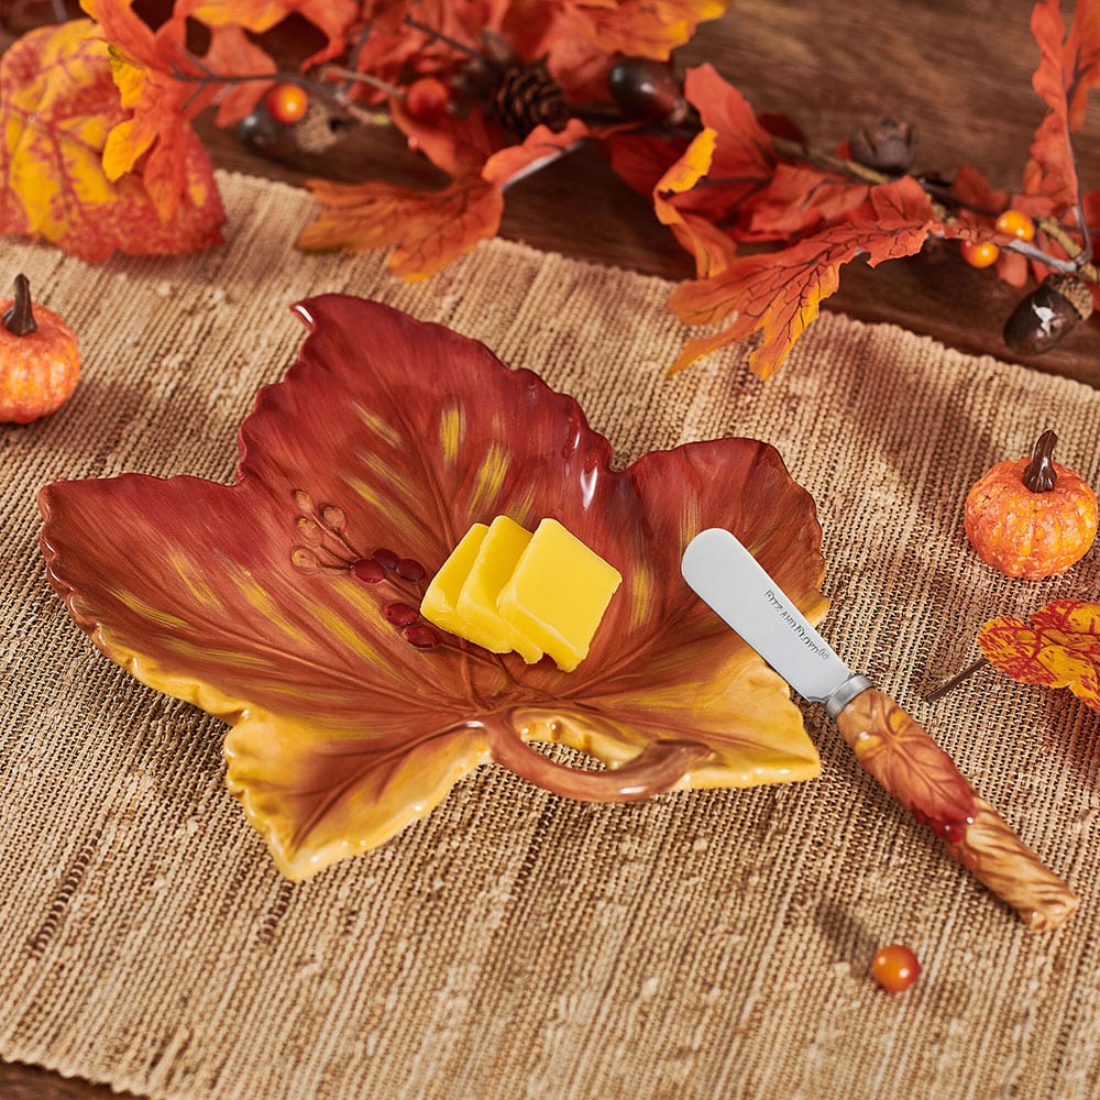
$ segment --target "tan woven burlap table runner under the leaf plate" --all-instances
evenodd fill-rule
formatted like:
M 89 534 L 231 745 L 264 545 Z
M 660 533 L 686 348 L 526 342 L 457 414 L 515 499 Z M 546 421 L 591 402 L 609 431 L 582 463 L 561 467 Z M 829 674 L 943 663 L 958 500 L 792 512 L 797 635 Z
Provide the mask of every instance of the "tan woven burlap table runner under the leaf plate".
M 222 176 L 229 239 L 88 267 L 7 243 L 79 331 L 54 418 L 0 431 L 0 1055 L 179 1098 L 1096 1096 L 1100 716 L 987 671 L 928 706 L 986 618 L 1096 598 L 1097 551 L 1011 582 L 966 488 L 1047 426 L 1100 480 L 1100 393 L 826 316 L 762 384 L 673 380 L 667 284 L 493 242 L 402 285 L 290 248 L 310 200 Z M 573 394 L 624 462 L 776 443 L 825 530 L 824 624 L 1084 897 L 1027 933 L 806 706 L 824 774 L 572 804 L 495 767 L 380 850 L 290 886 L 223 788 L 223 727 L 102 658 L 48 590 L 35 493 L 127 470 L 228 480 L 256 388 L 344 290 L 443 321 Z M 902 941 L 902 996 L 867 976 Z

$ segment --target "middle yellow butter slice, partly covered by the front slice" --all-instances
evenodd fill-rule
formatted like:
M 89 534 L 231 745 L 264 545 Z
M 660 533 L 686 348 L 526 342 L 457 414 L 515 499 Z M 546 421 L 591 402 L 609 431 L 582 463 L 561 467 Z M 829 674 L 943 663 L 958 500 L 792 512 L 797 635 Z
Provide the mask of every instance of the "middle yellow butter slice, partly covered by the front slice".
M 463 632 L 471 641 L 494 653 L 514 649 L 528 664 L 535 664 L 542 657 L 541 648 L 521 627 L 502 618 L 496 606 L 501 588 L 530 540 L 530 532 L 515 520 L 497 516 L 482 539 L 455 609 L 469 628 Z

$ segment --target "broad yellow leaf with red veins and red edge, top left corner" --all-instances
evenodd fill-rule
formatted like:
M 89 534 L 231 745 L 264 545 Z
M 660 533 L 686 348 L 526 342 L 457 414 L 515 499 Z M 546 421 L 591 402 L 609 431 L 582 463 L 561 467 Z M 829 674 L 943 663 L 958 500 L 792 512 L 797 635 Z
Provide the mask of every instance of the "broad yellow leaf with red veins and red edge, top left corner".
M 224 212 L 194 133 L 176 138 L 179 194 L 167 217 L 151 166 L 117 179 L 105 173 L 108 134 L 125 117 L 90 20 L 19 38 L 0 58 L 0 232 L 42 237 L 92 263 L 116 250 L 153 255 L 217 244 Z

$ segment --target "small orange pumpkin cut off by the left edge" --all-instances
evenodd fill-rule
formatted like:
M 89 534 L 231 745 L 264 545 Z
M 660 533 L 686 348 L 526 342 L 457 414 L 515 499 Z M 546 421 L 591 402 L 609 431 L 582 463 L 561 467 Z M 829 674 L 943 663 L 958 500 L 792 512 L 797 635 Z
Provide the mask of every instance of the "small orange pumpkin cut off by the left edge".
M 52 310 L 31 305 L 31 284 L 15 276 L 15 297 L 0 301 L 0 421 L 30 424 L 68 400 L 80 376 L 73 330 Z

